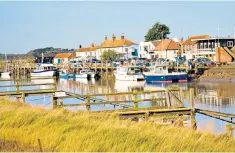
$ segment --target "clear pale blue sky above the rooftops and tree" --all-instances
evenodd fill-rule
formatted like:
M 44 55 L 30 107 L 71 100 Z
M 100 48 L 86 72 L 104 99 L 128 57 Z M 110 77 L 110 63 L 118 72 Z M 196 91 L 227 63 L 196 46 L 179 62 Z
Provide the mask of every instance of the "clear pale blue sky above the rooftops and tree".
M 0 2 L 0 52 L 100 44 L 104 35 L 138 43 L 156 22 L 170 37 L 232 36 L 235 2 Z

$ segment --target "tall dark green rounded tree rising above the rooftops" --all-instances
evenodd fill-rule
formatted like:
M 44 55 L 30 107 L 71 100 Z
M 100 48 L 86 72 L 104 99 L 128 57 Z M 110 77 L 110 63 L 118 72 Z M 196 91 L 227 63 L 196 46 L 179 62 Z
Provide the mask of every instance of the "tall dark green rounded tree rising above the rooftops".
M 170 34 L 170 28 L 165 24 L 161 24 L 157 22 L 152 26 L 151 29 L 148 30 L 148 33 L 145 36 L 145 41 L 153 41 L 159 39 L 168 38 L 167 35 Z M 162 37 L 163 36 L 163 37 Z

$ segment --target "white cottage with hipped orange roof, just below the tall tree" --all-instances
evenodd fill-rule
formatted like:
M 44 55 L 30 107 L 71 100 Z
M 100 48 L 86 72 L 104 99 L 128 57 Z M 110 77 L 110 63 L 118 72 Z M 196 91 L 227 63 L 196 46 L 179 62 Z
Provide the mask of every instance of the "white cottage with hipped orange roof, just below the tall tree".
M 175 60 L 175 57 L 180 54 L 180 44 L 172 39 L 163 39 L 153 51 L 157 58 Z

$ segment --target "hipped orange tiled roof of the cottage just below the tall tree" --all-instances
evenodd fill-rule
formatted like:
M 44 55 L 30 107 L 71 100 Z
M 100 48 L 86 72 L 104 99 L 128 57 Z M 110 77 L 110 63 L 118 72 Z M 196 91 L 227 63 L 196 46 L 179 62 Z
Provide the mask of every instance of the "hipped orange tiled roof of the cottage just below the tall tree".
M 179 49 L 180 49 L 179 43 L 171 39 L 164 39 L 157 45 L 157 47 L 154 48 L 154 51 L 179 50 Z

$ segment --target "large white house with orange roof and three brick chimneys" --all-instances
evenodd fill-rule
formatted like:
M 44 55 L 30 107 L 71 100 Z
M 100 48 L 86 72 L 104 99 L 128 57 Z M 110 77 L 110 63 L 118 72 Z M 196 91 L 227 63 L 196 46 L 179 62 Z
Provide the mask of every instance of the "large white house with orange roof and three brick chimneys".
M 124 35 L 121 35 L 120 39 L 116 39 L 116 36 L 113 35 L 111 40 L 108 40 L 105 36 L 104 41 L 98 48 L 96 58 L 101 59 L 103 52 L 108 50 L 114 50 L 119 54 L 120 59 L 138 57 L 138 45 L 126 39 Z

